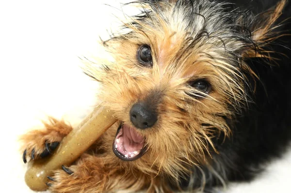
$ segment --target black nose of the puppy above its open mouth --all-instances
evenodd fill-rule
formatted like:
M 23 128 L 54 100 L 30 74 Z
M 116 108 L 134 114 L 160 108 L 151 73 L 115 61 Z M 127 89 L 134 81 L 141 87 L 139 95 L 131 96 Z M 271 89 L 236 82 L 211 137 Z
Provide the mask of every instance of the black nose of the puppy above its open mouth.
M 158 120 L 156 112 L 149 109 L 143 103 L 133 104 L 130 109 L 129 115 L 132 124 L 139 129 L 152 127 Z

